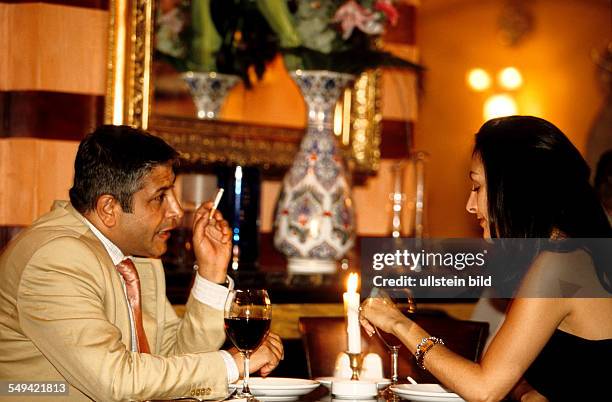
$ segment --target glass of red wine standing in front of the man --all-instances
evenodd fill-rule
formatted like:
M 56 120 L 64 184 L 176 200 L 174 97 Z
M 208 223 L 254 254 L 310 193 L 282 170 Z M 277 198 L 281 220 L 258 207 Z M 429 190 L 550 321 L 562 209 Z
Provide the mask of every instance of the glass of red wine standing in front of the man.
M 249 358 L 270 331 L 272 304 L 262 289 L 230 290 L 225 300 L 225 332 L 244 357 L 242 390 L 237 398 L 257 401 L 249 389 Z

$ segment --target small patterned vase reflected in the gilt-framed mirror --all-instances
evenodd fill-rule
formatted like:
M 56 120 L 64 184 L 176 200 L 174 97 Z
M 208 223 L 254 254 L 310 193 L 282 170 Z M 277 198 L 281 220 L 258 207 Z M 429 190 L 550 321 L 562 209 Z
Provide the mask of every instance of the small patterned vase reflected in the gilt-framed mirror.
M 187 71 L 181 74 L 187 83 L 199 119 L 216 120 L 230 89 L 240 80 L 233 74 Z

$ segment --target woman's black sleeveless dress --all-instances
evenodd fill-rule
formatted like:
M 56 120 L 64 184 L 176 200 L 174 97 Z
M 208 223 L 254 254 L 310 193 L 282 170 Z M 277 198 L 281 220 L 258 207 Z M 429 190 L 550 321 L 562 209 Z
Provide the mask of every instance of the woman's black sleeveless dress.
M 551 402 L 612 401 L 612 339 L 557 329 L 524 377 Z

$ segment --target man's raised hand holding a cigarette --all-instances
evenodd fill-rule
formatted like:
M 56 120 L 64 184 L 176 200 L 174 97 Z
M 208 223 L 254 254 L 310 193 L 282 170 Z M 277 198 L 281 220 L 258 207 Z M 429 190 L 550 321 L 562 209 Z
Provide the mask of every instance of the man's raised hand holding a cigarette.
M 232 250 L 231 231 L 218 210 L 209 219 L 212 202 L 198 208 L 193 220 L 193 251 L 198 273 L 211 282 L 223 283 Z

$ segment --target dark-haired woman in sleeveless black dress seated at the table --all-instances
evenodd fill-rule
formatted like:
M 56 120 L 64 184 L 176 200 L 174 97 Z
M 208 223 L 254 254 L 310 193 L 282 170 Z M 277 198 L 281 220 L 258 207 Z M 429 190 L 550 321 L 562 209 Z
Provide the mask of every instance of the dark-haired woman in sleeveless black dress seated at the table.
M 511 116 L 485 123 L 476 134 L 470 179 L 467 210 L 485 238 L 612 237 L 586 162 L 546 120 Z M 518 293 L 478 363 L 453 353 L 385 300 L 364 302 L 362 324 L 369 334 L 376 326 L 398 336 L 422 367 L 469 401 L 509 393 L 523 401 L 609 400 L 612 250 L 605 246 L 612 241 L 581 244 L 530 250 Z M 564 297 L 564 283 L 577 285 L 572 297 Z

